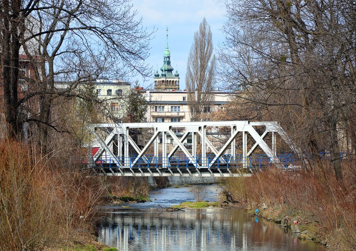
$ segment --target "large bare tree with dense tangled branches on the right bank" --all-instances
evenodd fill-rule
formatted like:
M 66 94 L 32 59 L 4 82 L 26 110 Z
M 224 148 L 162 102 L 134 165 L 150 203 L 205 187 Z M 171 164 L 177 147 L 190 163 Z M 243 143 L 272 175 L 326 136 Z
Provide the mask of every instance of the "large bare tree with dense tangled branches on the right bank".
M 338 131 L 356 91 L 352 1 L 233 0 L 227 11 L 222 80 L 264 107 L 264 118 L 280 121 L 304 151 L 329 152 L 342 181 Z

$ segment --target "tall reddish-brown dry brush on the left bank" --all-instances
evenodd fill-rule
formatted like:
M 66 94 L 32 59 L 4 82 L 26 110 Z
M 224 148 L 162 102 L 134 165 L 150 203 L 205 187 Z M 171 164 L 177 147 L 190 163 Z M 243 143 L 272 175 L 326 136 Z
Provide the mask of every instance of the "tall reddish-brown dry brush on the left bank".
M 32 150 L 32 149 L 31 149 Z M 55 166 L 18 142 L 0 142 L 0 249 L 70 243 L 91 225 L 105 193 L 97 178 Z

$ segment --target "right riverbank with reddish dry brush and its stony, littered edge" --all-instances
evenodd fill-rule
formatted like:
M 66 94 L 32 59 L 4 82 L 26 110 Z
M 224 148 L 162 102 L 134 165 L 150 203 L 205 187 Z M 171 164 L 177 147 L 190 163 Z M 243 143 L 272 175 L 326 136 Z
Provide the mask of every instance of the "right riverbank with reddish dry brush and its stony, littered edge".
M 225 206 L 290 227 L 299 238 L 313 239 L 330 250 L 355 250 L 355 173 L 343 166 L 345 189 L 331 167 L 298 173 L 269 169 L 246 178 L 226 179 Z M 223 203 L 224 206 L 224 203 Z

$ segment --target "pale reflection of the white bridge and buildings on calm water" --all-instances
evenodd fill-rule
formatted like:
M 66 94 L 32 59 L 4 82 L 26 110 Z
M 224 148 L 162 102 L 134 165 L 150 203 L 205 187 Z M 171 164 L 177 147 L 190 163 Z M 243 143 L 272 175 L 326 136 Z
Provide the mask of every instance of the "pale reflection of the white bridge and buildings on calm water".
M 242 220 L 242 211 L 236 216 L 216 214 L 214 209 L 188 213 L 157 210 L 123 212 L 106 215 L 105 220 L 100 222 L 99 241 L 113 245 L 109 240 L 115 239 L 119 250 L 173 250 L 168 245 L 170 243 L 191 246 L 193 249 L 200 247 L 198 250 L 206 250 L 210 242 L 244 245 L 242 238 L 246 234 L 243 232 L 250 231 L 253 224 L 251 219 Z M 234 220 L 236 217 L 242 218 Z

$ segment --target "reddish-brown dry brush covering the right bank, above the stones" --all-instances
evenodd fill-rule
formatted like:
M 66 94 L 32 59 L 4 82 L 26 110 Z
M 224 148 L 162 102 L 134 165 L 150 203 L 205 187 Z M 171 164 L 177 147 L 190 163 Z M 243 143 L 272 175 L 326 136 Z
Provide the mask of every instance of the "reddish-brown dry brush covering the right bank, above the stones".
M 268 206 L 273 214 L 299 214 L 305 223 L 317 221 L 329 242 L 339 250 L 356 248 L 356 173 L 343 162 L 345 188 L 328 163 L 313 164 L 313 171 L 285 172 L 271 168 L 247 178 L 230 178 L 227 191 L 250 207 Z

